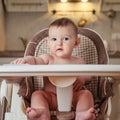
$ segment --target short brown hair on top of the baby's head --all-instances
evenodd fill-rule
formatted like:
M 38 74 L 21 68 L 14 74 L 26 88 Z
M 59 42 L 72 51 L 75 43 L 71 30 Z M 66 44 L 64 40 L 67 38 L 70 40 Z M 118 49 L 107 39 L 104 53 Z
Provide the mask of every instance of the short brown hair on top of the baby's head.
M 76 36 L 77 36 L 78 28 L 77 28 L 77 26 L 75 25 L 75 23 L 74 23 L 71 19 L 69 19 L 69 18 L 60 18 L 60 19 L 57 19 L 57 20 L 53 21 L 53 22 L 49 25 L 49 28 L 52 27 L 52 26 L 65 27 L 65 26 L 68 26 L 68 25 L 73 26 L 73 29 L 74 29 L 75 34 L 76 34 Z

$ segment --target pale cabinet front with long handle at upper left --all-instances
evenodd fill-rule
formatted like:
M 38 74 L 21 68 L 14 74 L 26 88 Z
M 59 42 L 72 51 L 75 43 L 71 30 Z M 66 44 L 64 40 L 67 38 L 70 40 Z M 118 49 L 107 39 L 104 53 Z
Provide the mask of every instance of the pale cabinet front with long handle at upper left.
M 8 12 L 46 12 L 48 0 L 6 0 Z

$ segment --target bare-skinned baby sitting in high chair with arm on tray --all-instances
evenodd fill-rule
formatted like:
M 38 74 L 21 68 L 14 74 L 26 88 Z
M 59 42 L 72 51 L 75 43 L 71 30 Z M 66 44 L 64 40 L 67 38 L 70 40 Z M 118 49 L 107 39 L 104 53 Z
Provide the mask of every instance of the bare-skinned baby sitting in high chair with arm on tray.
M 85 64 L 82 58 L 72 56 L 74 47 L 80 44 L 77 26 L 68 18 L 60 18 L 49 25 L 46 44 L 51 54 L 39 57 L 26 56 L 16 59 L 12 64 Z M 93 96 L 88 90 L 80 90 L 91 77 L 79 76 L 73 84 L 73 101 L 76 107 L 75 120 L 95 120 Z M 31 106 L 26 115 L 29 120 L 50 120 L 49 109 L 57 109 L 56 87 L 49 80 L 44 81 L 44 90 L 35 91 L 31 97 Z

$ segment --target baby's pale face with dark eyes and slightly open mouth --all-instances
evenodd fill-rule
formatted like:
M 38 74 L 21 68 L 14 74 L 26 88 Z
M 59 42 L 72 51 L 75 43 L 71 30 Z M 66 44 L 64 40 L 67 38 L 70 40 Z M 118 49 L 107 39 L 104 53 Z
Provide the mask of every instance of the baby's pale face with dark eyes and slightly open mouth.
M 71 25 L 49 29 L 48 46 L 53 55 L 69 58 L 76 46 L 77 37 Z

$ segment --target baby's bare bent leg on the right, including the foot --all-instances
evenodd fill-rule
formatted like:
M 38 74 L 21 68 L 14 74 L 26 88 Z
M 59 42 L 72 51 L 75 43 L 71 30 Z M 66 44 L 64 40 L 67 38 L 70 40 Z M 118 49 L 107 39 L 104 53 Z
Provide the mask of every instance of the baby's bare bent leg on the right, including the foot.
M 97 111 L 94 109 L 92 94 L 88 90 L 81 90 L 77 93 L 77 97 L 75 120 L 95 120 Z

